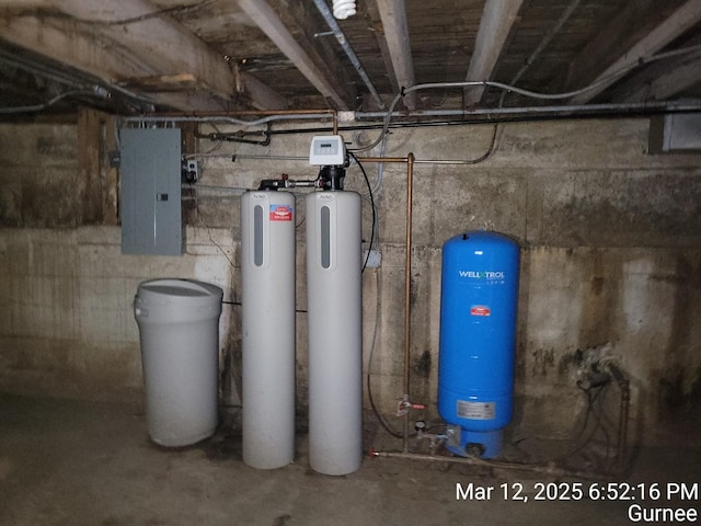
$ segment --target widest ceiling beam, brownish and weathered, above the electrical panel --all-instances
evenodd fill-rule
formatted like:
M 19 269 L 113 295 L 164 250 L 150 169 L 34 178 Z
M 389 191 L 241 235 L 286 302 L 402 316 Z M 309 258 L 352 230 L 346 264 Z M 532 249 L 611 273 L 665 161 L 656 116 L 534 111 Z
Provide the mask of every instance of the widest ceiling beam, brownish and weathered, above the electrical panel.
M 56 3 L 56 2 L 55 2 Z M 0 0 L 7 7 L 7 0 Z M 162 78 L 162 91 L 151 85 L 148 99 L 180 110 L 221 110 L 234 94 L 237 82 L 226 59 L 176 21 L 153 16 L 158 10 L 142 0 L 61 0 L 66 15 L 0 19 L 0 37 L 34 53 L 88 72 L 110 84 L 124 80 L 137 85 L 140 78 Z M 116 14 L 118 13 L 118 14 Z M 141 20 L 136 20 L 139 19 Z M 130 23 L 119 21 L 131 20 Z M 186 76 L 196 94 L 173 93 L 169 79 Z M 248 81 L 248 82 L 246 82 Z M 252 83 L 248 76 L 238 85 Z M 260 88 L 260 87 L 258 87 Z M 269 88 L 248 93 L 260 108 L 286 107 L 286 100 Z M 215 96 L 212 96 L 215 95 Z

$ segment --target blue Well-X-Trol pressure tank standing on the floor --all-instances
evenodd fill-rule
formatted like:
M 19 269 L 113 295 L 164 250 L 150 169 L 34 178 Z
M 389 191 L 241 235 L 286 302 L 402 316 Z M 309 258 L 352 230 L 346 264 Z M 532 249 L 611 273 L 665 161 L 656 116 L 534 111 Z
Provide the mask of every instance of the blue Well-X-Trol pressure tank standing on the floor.
M 474 231 L 443 247 L 438 412 L 450 451 L 498 457 L 512 420 L 519 248 Z

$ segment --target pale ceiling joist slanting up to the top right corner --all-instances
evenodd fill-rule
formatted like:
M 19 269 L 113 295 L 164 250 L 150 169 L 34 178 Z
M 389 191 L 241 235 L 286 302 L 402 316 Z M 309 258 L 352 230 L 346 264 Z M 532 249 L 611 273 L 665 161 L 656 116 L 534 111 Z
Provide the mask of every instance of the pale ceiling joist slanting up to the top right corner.
M 692 28 L 699 21 L 701 21 L 701 0 L 688 0 L 642 39 L 637 41 L 637 43 L 630 47 L 623 55 L 618 57 L 605 71 L 599 73 L 591 82 L 591 84 L 597 84 L 596 88 L 572 98 L 570 103 L 587 103 L 616 81 L 620 80 L 621 71 L 628 71 L 631 67 L 634 67 L 641 58 L 659 52 L 675 38 Z M 609 53 L 610 49 L 616 48 L 609 48 Z

